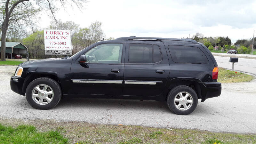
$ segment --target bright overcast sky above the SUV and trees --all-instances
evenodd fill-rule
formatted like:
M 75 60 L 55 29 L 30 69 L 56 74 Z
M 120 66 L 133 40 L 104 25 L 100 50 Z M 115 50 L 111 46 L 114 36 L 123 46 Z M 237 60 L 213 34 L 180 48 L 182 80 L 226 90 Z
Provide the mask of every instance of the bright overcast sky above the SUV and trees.
M 56 17 L 72 20 L 81 28 L 98 20 L 106 37 L 114 38 L 186 38 L 200 32 L 204 36 L 228 36 L 235 43 L 252 37 L 256 29 L 256 0 L 90 0 L 82 12 L 70 6 L 66 11 L 60 9 Z M 47 27 L 51 19 L 46 15 L 41 18 L 39 26 Z

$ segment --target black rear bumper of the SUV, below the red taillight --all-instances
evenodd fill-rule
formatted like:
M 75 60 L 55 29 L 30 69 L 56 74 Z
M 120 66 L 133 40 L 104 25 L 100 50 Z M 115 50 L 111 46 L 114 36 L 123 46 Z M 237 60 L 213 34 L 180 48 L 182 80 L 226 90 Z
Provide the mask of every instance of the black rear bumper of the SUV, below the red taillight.
M 221 83 L 211 82 L 211 83 L 200 83 L 202 91 L 202 100 L 204 101 L 209 98 L 218 97 L 221 94 Z

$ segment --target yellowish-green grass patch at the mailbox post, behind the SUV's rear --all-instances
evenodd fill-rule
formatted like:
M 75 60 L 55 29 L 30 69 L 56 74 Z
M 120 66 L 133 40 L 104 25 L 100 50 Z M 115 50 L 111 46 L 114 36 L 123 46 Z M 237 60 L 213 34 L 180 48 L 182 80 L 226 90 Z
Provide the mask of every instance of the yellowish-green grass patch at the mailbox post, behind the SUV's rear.
M 236 83 L 236 82 L 249 82 L 253 76 L 244 73 L 219 68 L 218 82 L 220 83 Z

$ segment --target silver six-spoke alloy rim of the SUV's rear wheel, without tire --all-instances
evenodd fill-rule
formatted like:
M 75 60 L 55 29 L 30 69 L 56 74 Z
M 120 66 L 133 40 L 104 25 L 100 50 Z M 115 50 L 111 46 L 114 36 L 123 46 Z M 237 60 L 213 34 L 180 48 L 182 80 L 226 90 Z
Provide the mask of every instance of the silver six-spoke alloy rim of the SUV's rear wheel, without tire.
M 188 92 L 180 92 L 174 98 L 174 105 L 179 110 L 188 110 L 191 108 L 193 98 Z

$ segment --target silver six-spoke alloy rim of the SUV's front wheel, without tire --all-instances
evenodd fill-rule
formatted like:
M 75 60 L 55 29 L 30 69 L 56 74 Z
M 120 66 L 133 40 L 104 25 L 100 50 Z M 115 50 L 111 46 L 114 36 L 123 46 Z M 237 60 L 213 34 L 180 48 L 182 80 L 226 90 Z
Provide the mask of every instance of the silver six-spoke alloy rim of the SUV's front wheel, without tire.
M 53 91 L 49 85 L 39 84 L 32 90 L 32 99 L 39 105 L 46 105 L 53 100 Z

